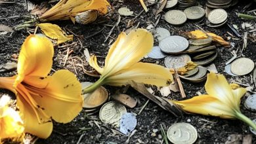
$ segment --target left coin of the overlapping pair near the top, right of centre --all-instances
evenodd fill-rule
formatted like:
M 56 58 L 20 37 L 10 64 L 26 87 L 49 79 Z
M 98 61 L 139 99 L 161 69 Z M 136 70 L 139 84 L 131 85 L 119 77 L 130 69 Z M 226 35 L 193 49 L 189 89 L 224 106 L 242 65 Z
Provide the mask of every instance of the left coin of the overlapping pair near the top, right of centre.
M 181 10 L 169 10 L 165 13 L 165 20 L 173 25 L 181 25 L 186 22 L 186 14 Z

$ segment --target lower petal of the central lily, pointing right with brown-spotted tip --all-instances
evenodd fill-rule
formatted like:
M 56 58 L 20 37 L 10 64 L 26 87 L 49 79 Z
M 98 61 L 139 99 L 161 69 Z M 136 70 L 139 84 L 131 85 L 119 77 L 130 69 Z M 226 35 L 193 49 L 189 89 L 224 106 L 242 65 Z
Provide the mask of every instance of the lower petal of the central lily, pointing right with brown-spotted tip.
M 154 84 L 156 86 L 167 86 L 173 81 L 169 69 L 153 63 L 135 63 L 128 69 L 123 69 L 106 79 L 106 84 L 121 86 L 129 81 Z

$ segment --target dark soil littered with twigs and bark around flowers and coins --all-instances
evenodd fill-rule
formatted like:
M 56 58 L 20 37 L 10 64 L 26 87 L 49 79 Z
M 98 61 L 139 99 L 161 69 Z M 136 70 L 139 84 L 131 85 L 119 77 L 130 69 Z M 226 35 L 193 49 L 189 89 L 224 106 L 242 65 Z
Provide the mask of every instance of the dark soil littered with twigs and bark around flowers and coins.
M 18 0 L 14 4 L 0 4 L 0 18 L 22 16 L 28 14 L 29 12 L 25 10 L 25 7 L 22 5 L 23 3 L 24 1 Z M 109 43 L 113 43 L 113 39 L 116 39 L 117 35 L 121 31 L 125 31 L 131 28 L 126 27 L 127 22 L 135 16 L 121 16 L 121 22 L 116 27 L 116 29 L 114 29 L 108 41 L 104 43 L 104 40 L 106 39 L 110 29 L 112 29 L 112 26 L 114 26 L 114 24 L 116 24 L 117 22 L 117 10 L 121 7 L 127 7 L 130 10 L 133 10 L 135 12 L 135 15 L 139 14 L 142 10 L 142 7 L 139 5 L 139 1 L 137 0 L 112 0 L 110 1 L 110 3 L 114 8 L 114 12 L 108 14 L 107 16 L 104 16 L 103 18 L 99 18 L 94 24 L 84 26 L 80 24 L 74 25 L 71 21 L 54 22 L 54 24 L 58 24 L 60 27 L 66 29 L 68 33 L 75 33 L 76 36 L 74 37 L 73 43 L 75 45 L 70 46 L 70 50 L 74 50 L 74 52 L 72 52 L 70 56 L 73 57 L 75 63 L 81 63 L 81 61 L 77 59 L 77 57 L 81 58 L 81 60 L 83 60 L 83 65 L 87 69 L 89 68 L 89 66 L 88 63 L 86 63 L 85 55 L 83 54 L 83 50 L 85 50 L 85 48 L 88 48 L 90 54 L 96 54 L 96 56 L 100 56 L 101 58 L 99 58 L 99 61 L 103 65 L 104 57 L 108 52 Z M 240 3 L 235 7 L 227 9 L 228 24 L 236 24 L 238 27 L 240 27 L 239 33 L 241 35 L 244 35 L 245 32 L 245 30 L 241 28 L 241 24 L 242 22 L 246 22 L 247 20 L 242 20 L 238 18 L 235 12 L 241 12 L 247 3 L 249 2 L 240 1 Z M 149 12 L 147 13 L 142 12 L 142 14 L 135 19 L 133 27 L 136 27 L 137 24 L 139 27 L 143 28 L 146 28 L 150 24 L 154 25 L 156 23 L 156 19 L 154 18 L 154 12 L 156 12 L 159 5 L 160 4 L 152 5 L 149 8 Z M 205 7 L 205 1 L 200 1 L 200 5 Z M 253 5 L 256 4 L 254 3 Z M 255 9 L 255 7 L 251 7 L 251 9 Z M 194 29 L 197 29 L 196 26 L 194 26 L 193 22 L 186 22 L 186 24 L 180 27 L 171 26 L 170 24 L 167 24 L 167 22 L 165 22 L 165 20 L 163 19 L 164 13 L 165 12 L 162 12 L 162 17 L 160 18 L 160 22 L 156 27 L 164 27 L 166 29 L 169 29 L 172 35 L 181 35 L 184 31 L 192 31 Z M 0 20 L 0 24 L 11 27 L 21 24 L 22 22 L 24 22 L 24 19 L 22 18 L 10 18 Z M 218 29 L 209 28 L 204 25 L 201 26 L 206 31 L 211 31 L 223 37 L 225 37 L 225 35 L 228 36 L 228 34 L 226 33 L 227 31 L 232 33 L 232 31 L 230 31 L 227 26 Z M 102 28 L 104 28 L 104 30 L 98 35 L 87 39 L 81 39 L 81 37 L 86 38 L 89 35 L 93 35 L 93 33 L 100 31 L 100 29 Z M 18 56 L 20 46 L 28 35 L 29 33 L 26 29 L 23 29 L 21 31 L 14 31 L 14 33 L 12 33 L 11 35 L 10 33 L 8 33 L 7 35 L 0 35 L 0 65 L 3 63 L 14 61 L 14 56 Z M 79 40 L 81 41 L 81 43 L 79 43 Z M 230 81 L 236 81 L 242 84 L 249 84 L 253 86 L 251 82 L 251 75 L 245 75 L 243 77 L 231 77 L 230 75 L 224 73 L 224 63 L 232 57 L 232 54 L 230 52 L 232 50 L 236 50 L 239 45 L 242 46 L 243 44 L 242 38 L 239 38 L 238 41 L 230 40 L 230 42 L 235 44 L 234 48 L 224 48 L 221 46 L 217 48 L 219 56 L 214 61 L 217 70 L 219 71 L 219 73 L 225 75 L 226 78 Z M 65 43 L 64 45 L 68 44 L 72 44 L 72 42 Z M 158 45 L 158 42 L 155 41 L 155 45 Z M 64 46 L 63 48 L 58 48 L 56 46 L 53 69 L 68 69 L 75 73 L 71 57 L 68 58 L 66 65 L 63 66 L 63 58 L 66 55 L 67 50 L 68 46 Z M 244 50 L 243 54 L 245 57 L 251 58 L 251 60 L 256 62 L 255 43 L 248 41 L 248 47 Z M 160 65 L 163 65 L 163 60 L 156 61 L 151 58 L 146 58 L 143 61 L 152 63 L 159 62 Z M 77 77 L 80 82 L 96 81 L 95 78 L 85 75 L 81 67 L 77 66 L 76 71 Z M 0 77 L 10 77 L 15 74 L 16 71 L 9 71 L 5 73 L 0 73 Z M 205 90 L 203 88 L 204 82 L 195 84 L 187 81 L 182 81 L 182 84 L 188 98 L 196 96 L 196 92 L 201 92 L 202 94 L 205 93 Z M 116 92 L 117 90 L 117 88 L 111 86 L 106 86 L 106 88 L 108 89 L 108 92 L 110 92 L 110 94 L 114 94 L 114 92 Z M 11 92 L 7 90 L 0 90 L 0 96 L 3 94 L 10 94 L 13 96 L 13 94 L 11 94 Z M 132 113 L 139 113 L 140 109 L 142 108 L 144 103 L 146 103 L 147 99 L 139 94 L 139 92 L 133 90 L 133 88 L 129 88 L 127 94 L 133 96 L 134 98 L 137 98 L 139 101 L 134 109 L 127 109 L 127 111 Z M 245 96 L 249 95 L 250 93 L 248 92 Z M 172 92 L 169 98 L 181 99 L 181 96 L 179 92 Z M 255 119 L 256 113 L 245 109 L 244 99 L 245 97 L 242 99 L 241 103 L 242 112 L 247 115 L 247 117 Z M 167 131 L 169 126 L 171 126 L 175 122 L 188 122 L 195 126 L 198 130 L 198 140 L 196 141 L 196 143 L 225 143 L 225 141 L 228 140 L 228 136 L 231 134 L 251 134 L 251 132 L 249 131 L 249 127 L 240 120 L 225 120 L 217 117 L 206 117 L 202 115 L 188 114 L 184 114 L 184 117 L 177 118 L 171 115 L 171 113 L 163 111 L 163 109 L 161 109 L 152 101 L 150 101 L 148 105 L 146 105 L 146 108 L 144 109 L 144 111 L 142 111 L 140 115 L 137 115 L 137 120 L 137 132 L 135 132 L 135 134 L 131 136 L 131 138 L 129 139 L 129 143 L 163 143 L 163 136 L 161 135 L 160 124 L 162 124 L 165 131 Z M 96 124 L 98 124 L 100 127 L 96 126 Z M 89 130 L 81 130 L 84 128 L 88 128 Z M 81 113 L 68 124 L 54 123 L 54 130 L 51 136 L 48 139 L 38 139 L 36 143 L 77 143 L 81 135 L 83 135 L 83 137 L 81 137 L 80 143 L 125 143 L 128 137 L 115 133 L 114 129 L 115 128 L 113 128 L 112 126 L 103 124 L 99 120 L 98 115 L 96 115 L 95 117 L 88 117 L 84 111 L 81 111 Z M 253 143 L 255 143 L 255 140 L 256 137 L 255 135 L 253 135 Z

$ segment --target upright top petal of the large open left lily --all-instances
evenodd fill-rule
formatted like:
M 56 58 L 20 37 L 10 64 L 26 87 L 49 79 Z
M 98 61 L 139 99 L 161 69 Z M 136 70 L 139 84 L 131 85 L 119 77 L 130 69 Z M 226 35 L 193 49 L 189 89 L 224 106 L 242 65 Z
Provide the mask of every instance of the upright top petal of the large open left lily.
M 18 57 L 16 84 L 22 82 L 26 75 L 46 77 L 53 65 L 53 54 L 53 44 L 47 37 L 41 35 L 27 37 Z

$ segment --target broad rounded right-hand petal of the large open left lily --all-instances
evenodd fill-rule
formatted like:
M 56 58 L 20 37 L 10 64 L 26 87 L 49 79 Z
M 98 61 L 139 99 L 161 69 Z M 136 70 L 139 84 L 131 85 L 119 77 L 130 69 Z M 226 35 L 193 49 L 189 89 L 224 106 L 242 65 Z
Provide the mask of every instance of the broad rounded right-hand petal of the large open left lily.
M 49 117 L 56 122 L 70 122 L 82 110 L 81 84 L 68 70 L 56 71 L 47 79 L 49 84 L 44 89 L 31 86 L 26 88 L 34 94 L 39 94 L 33 96 L 33 99 Z

